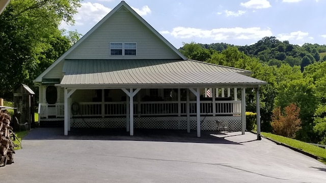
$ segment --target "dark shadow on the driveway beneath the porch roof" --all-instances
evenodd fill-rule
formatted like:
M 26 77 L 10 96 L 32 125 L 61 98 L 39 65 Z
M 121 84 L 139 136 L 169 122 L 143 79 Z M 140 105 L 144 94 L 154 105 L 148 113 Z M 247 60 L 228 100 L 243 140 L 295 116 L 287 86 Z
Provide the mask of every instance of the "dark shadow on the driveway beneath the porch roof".
M 238 136 L 230 135 L 230 136 Z M 130 136 L 125 129 L 89 129 L 71 128 L 68 136 L 64 135 L 63 128 L 36 128 L 26 135 L 24 140 L 124 140 L 124 141 L 162 141 L 162 142 L 192 142 L 192 143 L 217 143 L 238 144 L 224 139 L 224 133 L 216 131 L 201 131 L 201 137 L 197 137 L 197 131 L 187 133 L 186 130 L 157 130 L 135 129 L 134 136 Z

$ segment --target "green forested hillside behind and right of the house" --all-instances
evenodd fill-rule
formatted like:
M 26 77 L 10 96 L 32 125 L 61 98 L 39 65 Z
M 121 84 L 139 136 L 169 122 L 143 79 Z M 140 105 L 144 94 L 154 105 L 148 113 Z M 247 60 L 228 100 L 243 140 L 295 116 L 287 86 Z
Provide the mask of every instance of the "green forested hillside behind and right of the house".
M 266 37 L 250 46 L 226 43 L 185 43 L 179 49 L 189 59 L 246 69 L 252 77 L 268 82 L 261 86 L 262 131 L 271 132 L 271 115 L 290 104 L 300 108 L 301 129 L 295 138 L 326 143 L 326 45 L 292 45 Z M 252 88 L 248 88 L 250 95 Z M 255 112 L 255 102 L 247 102 Z

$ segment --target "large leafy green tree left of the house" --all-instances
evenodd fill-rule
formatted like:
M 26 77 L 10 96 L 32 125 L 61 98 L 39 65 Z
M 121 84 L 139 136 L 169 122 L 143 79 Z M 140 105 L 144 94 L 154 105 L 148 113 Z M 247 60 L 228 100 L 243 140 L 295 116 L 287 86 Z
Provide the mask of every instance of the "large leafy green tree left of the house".
M 62 21 L 72 24 L 79 6 L 79 0 L 11 1 L 0 15 L 1 97 L 11 100 L 18 84 L 32 85 L 43 70 L 38 66 L 53 62 L 70 46 L 58 27 Z

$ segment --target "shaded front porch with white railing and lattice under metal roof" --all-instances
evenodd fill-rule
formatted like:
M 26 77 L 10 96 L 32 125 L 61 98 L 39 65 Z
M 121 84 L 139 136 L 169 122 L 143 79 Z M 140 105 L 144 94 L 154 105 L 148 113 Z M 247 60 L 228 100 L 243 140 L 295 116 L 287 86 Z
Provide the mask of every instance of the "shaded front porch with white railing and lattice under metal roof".
M 207 96 L 207 89 L 211 90 L 211 96 Z M 223 121 L 228 131 L 244 133 L 246 130 L 245 100 L 238 100 L 237 97 L 240 92 L 241 99 L 246 98 L 244 89 L 242 88 L 240 92 L 237 88 L 232 88 L 232 90 L 231 88 L 196 88 L 193 90 L 178 88 L 174 89 L 173 94 L 172 92 L 169 94 L 171 95 L 169 101 L 148 101 L 149 96 L 146 94 L 149 89 L 138 89 L 132 98 L 126 95 L 127 89 L 124 92 L 122 92 L 123 89 L 113 89 L 116 91 L 110 93 L 114 93 L 115 100 L 118 98 L 123 100 L 109 99 L 112 102 L 107 102 L 108 97 L 105 96 L 108 93 L 107 89 L 71 89 L 69 93 L 65 89 L 66 106 L 65 103 L 52 105 L 40 103 L 39 119 L 41 123 L 42 121 L 65 120 L 66 135 L 70 128 L 126 128 L 128 132 L 131 129 L 132 131 L 133 129 L 171 129 L 188 132 L 197 130 L 197 136 L 200 136 L 201 130 L 216 130 L 217 120 Z M 98 90 L 101 92 L 98 93 Z M 119 95 L 117 95 L 117 90 L 120 90 Z M 95 101 L 100 102 L 94 102 L 94 96 L 85 96 L 86 93 L 91 94 L 94 91 L 97 96 Z M 132 91 L 136 90 L 132 89 Z M 85 96 L 84 101 L 80 96 Z M 98 96 L 101 97 L 98 98 Z M 166 96 L 162 97 L 166 99 Z M 93 101 L 85 102 L 90 99 Z M 65 113 L 69 114 L 67 118 L 65 118 Z M 131 119 L 132 127 L 130 126 Z M 130 135 L 133 133 L 130 132 Z

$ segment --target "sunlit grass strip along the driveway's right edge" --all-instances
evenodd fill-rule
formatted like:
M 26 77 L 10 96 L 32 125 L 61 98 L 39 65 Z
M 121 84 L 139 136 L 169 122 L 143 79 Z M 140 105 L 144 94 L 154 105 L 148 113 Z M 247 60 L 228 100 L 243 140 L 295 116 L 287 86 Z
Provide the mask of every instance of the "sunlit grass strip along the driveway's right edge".
M 324 148 L 310 145 L 306 142 L 283 137 L 280 135 L 271 134 L 271 133 L 261 132 L 261 135 L 263 135 L 264 137 L 273 139 L 277 142 L 284 143 L 286 145 L 289 145 L 289 146 L 292 146 L 292 147 L 295 147 L 298 149 L 302 149 L 303 151 L 305 151 L 307 153 L 310 153 L 312 155 L 319 157 L 320 158 L 319 161 L 326 164 L 326 149 L 324 149 Z

